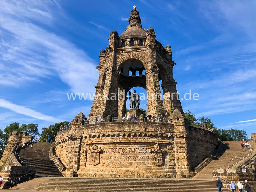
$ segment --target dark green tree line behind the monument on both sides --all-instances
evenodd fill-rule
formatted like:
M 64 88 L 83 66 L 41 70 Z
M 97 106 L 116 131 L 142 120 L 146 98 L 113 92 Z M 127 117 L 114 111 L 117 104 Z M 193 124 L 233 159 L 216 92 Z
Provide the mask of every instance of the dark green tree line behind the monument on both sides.
M 146 114 L 146 111 L 143 110 L 143 113 Z M 217 129 L 214 126 L 212 119 L 209 117 L 204 117 L 203 115 L 202 117 L 196 119 L 195 115 L 189 110 L 185 112 L 185 117 L 191 124 L 194 124 L 195 121 L 199 123 L 206 123 L 207 127 L 211 128 L 222 141 L 240 141 L 248 139 L 247 133 L 241 129 Z M 57 135 L 60 126 L 65 126 L 68 124 L 68 121 L 63 121 L 50 125 L 49 127 L 43 127 L 42 133 L 40 135 L 37 124 L 30 123 L 19 125 L 17 122 L 12 123 L 6 126 L 3 130 L 0 129 L 0 157 L 2 157 L 4 148 L 7 145 L 9 133 L 11 131 L 27 131 L 28 135 L 33 136 L 33 141 L 47 142 L 47 138 L 49 137 L 50 142 L 54 142 L 55 136 Z

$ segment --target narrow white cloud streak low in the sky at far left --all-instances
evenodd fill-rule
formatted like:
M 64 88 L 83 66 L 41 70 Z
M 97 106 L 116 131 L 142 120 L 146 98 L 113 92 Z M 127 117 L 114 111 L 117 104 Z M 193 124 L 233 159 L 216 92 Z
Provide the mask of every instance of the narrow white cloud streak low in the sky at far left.
M 23 115 L 33 117 L 35 119 L 44 120 L 44 121 L 49 121 L 49 122 L 61 122 L 61 121 L 63 121 L 61 119 L 56 119 L 52 116 L 44 115 L 40 112 L 37 112 L 36 110 L 27 108 L 25 106 L 16 105 L 16 104 L 14 104 L 10 101 L 6 101 L 4 99 L 0 99 L 0 107 L 5 108 L 5 109 L 9 109 L 9 110 L 11 110 L 15 113 L 23 114 Z

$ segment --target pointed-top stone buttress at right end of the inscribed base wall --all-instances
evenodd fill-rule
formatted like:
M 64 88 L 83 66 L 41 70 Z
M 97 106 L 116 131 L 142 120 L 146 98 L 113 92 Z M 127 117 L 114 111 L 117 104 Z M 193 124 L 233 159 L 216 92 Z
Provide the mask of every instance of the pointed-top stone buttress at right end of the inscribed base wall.
M 174 125 L 174 151 L 177 178 L 185 178 L 189 173 L 189 160 L 187 150 L 188 128 L 185 124 L 185 116 L 175 109 L 171 115 Z

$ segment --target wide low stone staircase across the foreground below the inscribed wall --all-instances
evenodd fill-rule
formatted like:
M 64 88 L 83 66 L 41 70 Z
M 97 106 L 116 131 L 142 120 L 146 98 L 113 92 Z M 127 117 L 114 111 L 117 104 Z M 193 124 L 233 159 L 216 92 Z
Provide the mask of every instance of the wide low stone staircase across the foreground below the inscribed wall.
M 35 184 L 37 183 L 37 184 Z M 36 178 L 16 186 L 16 189 L 37 191 L 159 191 L 159 192 L 217 192 L 215 181 L 195 179 L 140 179 L 140 178 Z M 223 192 L 230 190 L 223 189 Z

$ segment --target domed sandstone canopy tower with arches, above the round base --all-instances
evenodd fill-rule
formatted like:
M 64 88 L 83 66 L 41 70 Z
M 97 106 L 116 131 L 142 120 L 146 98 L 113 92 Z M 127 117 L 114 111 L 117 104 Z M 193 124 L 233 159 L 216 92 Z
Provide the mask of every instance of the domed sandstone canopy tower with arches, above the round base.
M 175 95 L 177 83 L 173 79 L 172 68 L 176 63 L 172 61 L 171 47 L 163 47 L 156 40 L 153 28 L 142 28 L 136 6 L 128 21 L 126 30 L 119 36 L 115 30 L 111 31 L 109 45 L 106 50 L 100 51 L 100 62 L 97 66 L 99 81 L 95 86 L 95 95 L 99 97 L 93 102 L 89 119 L 96 116 L 124 116 L 127 92 L 136 86 L 145 88 L 150 97 L 147 100 L 148 114 L 169 116 L 175 109 L 183 113 L 181 103 Z M 167 95 L 165 100 L 161 98 L 160 80 L 163 94 Z M 112 93 L 119 93 L 118 100 L 102 99 L 103 95 L 111 97 Z

